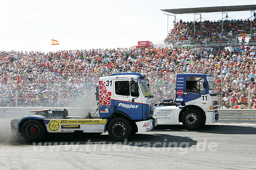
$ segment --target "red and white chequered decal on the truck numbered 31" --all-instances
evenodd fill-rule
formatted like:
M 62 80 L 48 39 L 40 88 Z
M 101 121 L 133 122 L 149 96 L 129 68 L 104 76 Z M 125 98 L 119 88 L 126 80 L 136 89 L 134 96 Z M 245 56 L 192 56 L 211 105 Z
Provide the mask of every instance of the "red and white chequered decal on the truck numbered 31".
M 99 82 L 99 90 L 100 107 L 103 105 L 109 107 L 111 105 L 111 92 L 107 92 L 106 82 Z

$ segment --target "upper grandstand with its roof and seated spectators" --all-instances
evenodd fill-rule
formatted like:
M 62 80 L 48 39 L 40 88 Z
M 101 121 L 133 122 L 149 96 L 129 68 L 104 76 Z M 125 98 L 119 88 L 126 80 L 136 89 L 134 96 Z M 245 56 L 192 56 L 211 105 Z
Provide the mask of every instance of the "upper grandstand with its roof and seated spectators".
M 256 5 L 243 6 L 215 6 L 198 8 L 180 8 L 162 10 L 168 16 L 175 17 L 174 28 L 165 38 L 166 44 L 182 46 L 234 46 L 256 45 Z M 227 12 L 251 11 L 251 16 L 246 20 L 236 20 L 228 16 Z M 202 13 L 222 12 L 222 19 L 218 21 L 202 21 Z M 193 22 L 176 22 L 177 14 L 194 13 Z M 200 15 L 200 21 L 195 15 Z M 223 18 L 223 14 L 226 16 Z M 254 17 L 254 19 L 253 19 Z

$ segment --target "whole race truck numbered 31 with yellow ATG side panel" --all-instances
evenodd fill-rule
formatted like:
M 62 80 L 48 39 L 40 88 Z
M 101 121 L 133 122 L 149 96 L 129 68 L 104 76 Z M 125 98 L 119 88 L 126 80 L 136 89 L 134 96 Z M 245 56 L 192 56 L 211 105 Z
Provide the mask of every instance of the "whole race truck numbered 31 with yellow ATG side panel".
M 12 130 L 21 133 L 27 142 L 42 141 L 47 133 L 106 131 L 113 140 L 123 141 L 156 125 L 154 96 L 143 74 L 116 73 L 101 77 L 95 94 L 99 107 L 93 116 L 88 114 L 78 119 L 68 116 L 66 109 L 36 110 L 32 111 L 34 115 L 12 120 Z

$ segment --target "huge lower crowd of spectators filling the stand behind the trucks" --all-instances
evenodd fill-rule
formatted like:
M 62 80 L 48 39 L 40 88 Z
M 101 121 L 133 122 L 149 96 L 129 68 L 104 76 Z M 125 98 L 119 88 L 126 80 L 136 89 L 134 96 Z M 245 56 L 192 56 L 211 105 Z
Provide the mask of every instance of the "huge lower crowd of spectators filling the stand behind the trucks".
M 0 103 L 7 107 L 94 106 L 98 78 L 116 72 L 146 74 L 161 101 L 175 97 L 175 74 L 183 72 L 214 75 L 226 108 L 246 108 L 248 102 L 256 108 L 256 46 L 1 51 L 0 57 Z

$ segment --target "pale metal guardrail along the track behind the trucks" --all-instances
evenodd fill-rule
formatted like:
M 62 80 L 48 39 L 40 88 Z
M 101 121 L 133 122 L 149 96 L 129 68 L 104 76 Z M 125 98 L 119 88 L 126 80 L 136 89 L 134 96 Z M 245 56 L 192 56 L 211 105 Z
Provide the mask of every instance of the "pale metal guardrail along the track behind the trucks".
M 18 114 L 17 117 L 33 114 L 32 110 L 47 109 L 46 107 L 0 107 L 0 118 L 11 118 L 10 114 Z M 54 109 L 64 109 L 63 107 L 54 107 Z M 88 112 L 93 114 L 96 108 L 85 107 L 67 107 L 69 116 L 86 116 Z M 219 109 L 220 123 L 256 123 L 256 109 Z

